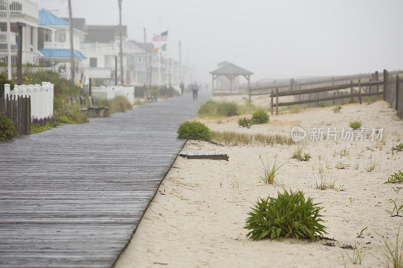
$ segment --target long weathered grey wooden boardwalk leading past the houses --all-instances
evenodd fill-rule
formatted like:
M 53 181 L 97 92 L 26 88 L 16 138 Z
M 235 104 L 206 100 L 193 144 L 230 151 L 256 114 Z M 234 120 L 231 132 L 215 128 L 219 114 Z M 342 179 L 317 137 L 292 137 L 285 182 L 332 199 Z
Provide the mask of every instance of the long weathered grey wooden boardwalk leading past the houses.
M 207 96 L 190 98 L 1 143 L 0 266 L 112 266 Z

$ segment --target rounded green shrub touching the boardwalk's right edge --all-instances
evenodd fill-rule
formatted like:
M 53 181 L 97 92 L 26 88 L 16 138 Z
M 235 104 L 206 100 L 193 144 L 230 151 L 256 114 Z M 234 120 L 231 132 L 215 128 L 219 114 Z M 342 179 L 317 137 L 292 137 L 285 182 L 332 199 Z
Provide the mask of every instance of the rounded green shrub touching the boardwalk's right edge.
M 176 133 L 178 139 L 211 141 L 210 129 L 196 120 L 183 122 Z

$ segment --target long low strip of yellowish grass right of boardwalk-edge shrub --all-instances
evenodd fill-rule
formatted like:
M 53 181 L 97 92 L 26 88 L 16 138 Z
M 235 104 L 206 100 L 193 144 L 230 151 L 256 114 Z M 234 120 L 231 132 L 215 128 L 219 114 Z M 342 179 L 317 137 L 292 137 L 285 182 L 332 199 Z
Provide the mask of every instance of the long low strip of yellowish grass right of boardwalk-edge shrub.
M 294 142 L 288 136 L 280 134 L 248 134 L 234 131 L 211 131 L 211 139 L 217 143 L 228 145 L 274 145 L 274 144 L 293 144 Z

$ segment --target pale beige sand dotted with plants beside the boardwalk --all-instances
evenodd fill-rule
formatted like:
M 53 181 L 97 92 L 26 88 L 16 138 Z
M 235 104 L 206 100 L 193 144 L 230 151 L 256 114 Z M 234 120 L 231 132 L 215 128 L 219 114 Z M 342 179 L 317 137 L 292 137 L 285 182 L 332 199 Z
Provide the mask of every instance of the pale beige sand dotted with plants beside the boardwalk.
M 237 126 L 237 118 L 202 119 L 213 130 L 247 133 L 282 133 L 291 127 L 348 127 L 359 120 L 363 127 L 383 127 L 384 142 L 306 141 L 304 152 L 310 161 L 291 159 L 293 145 L 220 146 L 204 141 L 187 141 L 183 150 L 225 152 L 225 160 L 197 160 L 177 157 L 158 193 L 147 209 L 136 233 L 120 256 L 116 267 L 246 267 L 246 266 L 352 266 L 346 253 L 351 246 L 365 253 L 362 265 L 382 266 L 384 242 L 393 241 L 400 217 L 390 217 L 389 199 L 403 204 L 402 191 L 383 184 L 388 173 L 403 168 L 403 152 L 391 153 L 391 147 L 403 140 L 403 121 L 383 102 L 371 105 L 343 106 L 340 113 L 331 108 L 315 108 L 296 114 L 273 115 L 267 124 L 250 129 Z M 220 121 L 220 123 L 218 123 Z M 367 150 L 366 146 L 373 149 Z M 347 149 L 346 156 L 336 155 Z M 322 203 L 324 225 L 322 240 L 285 239 L 252 241 L 243 229 L 247 212 L 258 197 L 276 197 L 283 186 L 264 185 L 259 180 L 264 161 L 284 165 L 278 175 L 284 189 L 301 190 L 306 197 Z M 319 167 L 327 161 L 326 182 L 335 189 L 318 190 Z M 350 164 L 336 169 L 337 162 Z M 366 171 L 370 161 L 379 161 Z M 358 169 L 355 169 L 358 163 Z M 237 185 L 239 184 L 239 187 Z M 343 188 L 344 191 L 340 191 Z M 357 237 L 364 227 L 363 238 Z M 334 240 L 332 240 L 334 239 Z

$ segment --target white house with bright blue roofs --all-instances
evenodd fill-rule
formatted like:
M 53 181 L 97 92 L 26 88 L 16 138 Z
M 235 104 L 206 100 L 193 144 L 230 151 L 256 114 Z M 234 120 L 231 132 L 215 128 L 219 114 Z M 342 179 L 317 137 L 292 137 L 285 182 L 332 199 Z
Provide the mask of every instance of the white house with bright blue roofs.
M 38 23 L 38 49 L 42 54 L 41 62 L 46 67 L 54 67 L 65 78 L 70 78 L 70 25 L 51 12 L 41 9 Z M 77 20 L 76 20 L 77 25 Z M 85 29 L 74 28 L 73 48 L 75 61 L 75 79 L 82 79 L 82 61 L 86 59 L 80 52 L 81 42 L 86 36 Z

